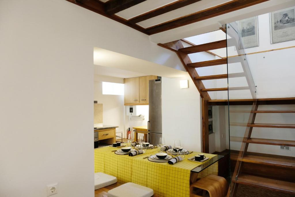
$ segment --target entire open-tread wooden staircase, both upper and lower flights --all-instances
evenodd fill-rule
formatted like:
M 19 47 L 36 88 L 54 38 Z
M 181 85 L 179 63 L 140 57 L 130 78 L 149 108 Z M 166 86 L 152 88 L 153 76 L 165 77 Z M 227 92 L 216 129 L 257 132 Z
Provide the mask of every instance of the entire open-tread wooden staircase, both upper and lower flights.
M 224 28 L 223 28 L 224 30 Z M 242 164 L 250 163 L 255 165 L 266 165 L 266 166 L 275 166 L 280 168 L 285 175 L 288 174 L 289 171 L 286 169 L 295 169 L 295 161 L 294 158 L 276 158 L 271 156 L 261 156 L 261 155 L 250 155 L 247 153 L 248 145 L 250 143 L 255 144 L 267 144 L 267 145 L 282 145 L 282 146 L 295 146 L 295 141 L 291 140 L 278 140 L 278 139 L 259 139 L 259 138 L 251 138 L 251 133 L 253 127 L 268 127 L 268 128 L 295 128 L 295 124 L 260 124 L 254 123 L 255 116 L 257 113 L 295 113 L 295 110 L 258 110 L 258 103 L 256 103 L 256 88 L 253 82 L 252 75 L 250 73 L 249 66 L 246 59 L 242 56 L 235 58 L 220 58 L 209 61 L 195 62 L 192 63 L 188 54 L 196 53 L 196 52 L 206 52 L 208 50 L 214 50 L 219 48 L 225 48 L 228 46 L 236 46 L 239 48 L 239 44 L 235 42 L 235 40 L 239 40 L 234 36 L 230 35 L 232 38 L 229 40 L 220 40 L 216 42 L 210 42 L 202 45 L 194 45 L 193 43 L 186 42 L 190 44 L 190 47 L 183 46 L 183 40 L 177 40 L 173 42 L 168 42 L 165 44 L 158 44 L 161 47 L 164 47 L 168 50 L 176 52 L 178 57 L 180 58 L 184 68 L 186 68 L 187 72 L 191 76 L 192 80 L 196 88 L 198 89 L 200 96 L 202 98 L 202 141 L 203 147 L 202 152 L 209 152 L 209 133 L 208 133 L 208 105 L 209 103 L 218 103 L 224 102 L 227 104 L 227 100 L 211 100 L 208 92 L 211 91 L 229 91 L 229 90 L 250 90 L 253 99 L 244 99 L 245 102 L 253 103 L 252 109 L 249 111 L 231 111 L 233 113 L 249 113 L 249 121 L 248 123 L 231 123 L 231 126 L 243 126 L 246 127 L 245 136 L 244 137 L 230 137 L 231 141 L 242 142 L 241 151 L 237 154 L 236 159 L 236 167 L 234 170 L 234 176 L 232 179 L 232 183 L 235 183 L 236 187 L 233 187 L 233 195 L 235 196 L 235 192 L 237 190 L 238 184 L 251 185 L 260 188 L 271 189 L 274 191 L 281 191 L 286 193 L 295 194 L 295 180 L 284 181 L 274 179 L 273 177 L 268 177 L 267 172 L 261 170 L 261 176 L 254 176 L 251 174 L 243 174 L 241 173 L 243 170 L 240 170 L 243 167 Z M 219 75 L 208 75 L 208 76 L 199 76 L 196 71 L 196 68 L 207 67 L 207 66 L 215 66 L 215 65 L 223 65 L 227 63 L 236 63 L 240 62 L 243 68 L 243 72 L 241 73 L 230 73 L 230 74 L 219 74 Z M 223 88 L 205 88 L 202 81 L 204 80 L 214 80 L 214 79 L 224 79 L 224 78 L 235 78 L 235 77 L 245 77 L 248 83 L 248 86 L 245 87 L 223 87 Z M 253 102 L 254 101 L 254 102 Z M 230 101 L 231 102 L 231 101 Z M 235 101 L 234 101 L 235 102 Z M 244 101 L 243 101 L 244 102 Z M 268 102 L 268 101 L 265 101 Z M 261 166 L 259 166 L 261 168 Z M 272 168 L 271 168 L 272 169 Z M 279 171 L 279 170 L 278 170 Z M 287 172 L 287 173 L 286 173 Z M 276 174 L 275 172 L 274 174 Z M 292 173 L 290 173 L 292 174 Z M 265 176 L 264 176 L 265 175 Z M 294 173 L 295 175 L 295 173 Z M 237 177 L 237 178 L 236 178 Z

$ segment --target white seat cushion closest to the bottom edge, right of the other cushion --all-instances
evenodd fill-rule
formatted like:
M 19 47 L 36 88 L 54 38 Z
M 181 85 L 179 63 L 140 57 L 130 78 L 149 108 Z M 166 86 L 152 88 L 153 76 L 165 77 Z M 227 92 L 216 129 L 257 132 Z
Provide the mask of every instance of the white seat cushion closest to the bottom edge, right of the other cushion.
M 108 197 L 151 197 L 154 191 L 135 183 L 125 183 L 108 191 Z

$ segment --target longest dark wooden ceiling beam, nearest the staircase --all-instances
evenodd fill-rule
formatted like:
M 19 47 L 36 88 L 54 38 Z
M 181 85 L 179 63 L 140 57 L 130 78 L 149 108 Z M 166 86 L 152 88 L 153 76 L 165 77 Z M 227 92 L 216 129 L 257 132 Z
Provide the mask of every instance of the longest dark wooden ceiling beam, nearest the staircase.
M 157 24 L 152 27 L 148 27 L 145 30 L 148 32 L 148 34 L 152 35 L 152 34 L 164 32 L 170 29 L 174 29 L 177 27 L 181 27 L 187 24 L 191 24 L 194 22 L 198 22 L 201 20 L 216 17 L 229 12 L 233 12 L 233 11 L 243 9 L 249 6 L 260 4 L 266 1 L 269 1 L 269 0 L 233 0 L 218 6 L 214 6 L 214 7 L 201 10 L 199 12 L 195 12 L 189 15 L 185 15 L 183 17 L 179 17 L 161 24 Z

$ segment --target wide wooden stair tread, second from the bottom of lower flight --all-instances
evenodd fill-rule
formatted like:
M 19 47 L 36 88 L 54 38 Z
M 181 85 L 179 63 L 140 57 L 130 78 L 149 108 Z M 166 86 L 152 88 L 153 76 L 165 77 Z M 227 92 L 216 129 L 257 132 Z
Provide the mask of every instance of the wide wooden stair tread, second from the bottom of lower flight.
M 280 158 L 280 157 L 267 157 L 260 155 L 249 155 L 246 154 L 242 158 L 243 162 L 258 163 L 266 165 L 274 165 L 286 168 L 295 168 L 295 157 L 294 158 Z

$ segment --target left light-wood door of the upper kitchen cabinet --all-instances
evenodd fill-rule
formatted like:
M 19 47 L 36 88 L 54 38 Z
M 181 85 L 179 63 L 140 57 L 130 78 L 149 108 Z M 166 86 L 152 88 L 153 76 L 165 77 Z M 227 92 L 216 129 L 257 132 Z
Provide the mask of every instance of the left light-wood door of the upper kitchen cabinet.
M 139 77 L 124 79 L 124 103 L 139 103 Z

